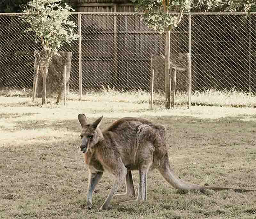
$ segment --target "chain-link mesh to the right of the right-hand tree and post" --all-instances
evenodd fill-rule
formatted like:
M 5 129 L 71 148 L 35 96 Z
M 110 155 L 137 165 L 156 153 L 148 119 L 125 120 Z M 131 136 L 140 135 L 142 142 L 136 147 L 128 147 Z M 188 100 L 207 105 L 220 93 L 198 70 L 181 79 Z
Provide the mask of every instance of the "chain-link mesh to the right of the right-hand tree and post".
M 192 91 L 256 93 L 256 16 L 192 15 Z

